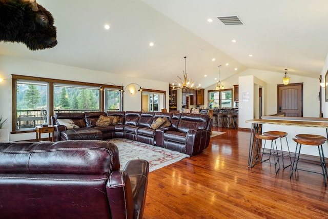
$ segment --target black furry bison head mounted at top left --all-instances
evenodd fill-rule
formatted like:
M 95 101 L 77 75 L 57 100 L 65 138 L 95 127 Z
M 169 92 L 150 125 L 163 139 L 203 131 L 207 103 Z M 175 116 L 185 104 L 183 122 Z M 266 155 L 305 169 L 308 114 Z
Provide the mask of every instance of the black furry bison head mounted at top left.
M 0 42 L 24 43 L 30 50 L 57 45 L 49 11 L 36 0 L 0 0 Z

